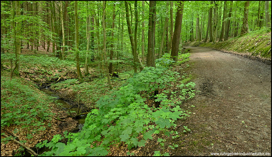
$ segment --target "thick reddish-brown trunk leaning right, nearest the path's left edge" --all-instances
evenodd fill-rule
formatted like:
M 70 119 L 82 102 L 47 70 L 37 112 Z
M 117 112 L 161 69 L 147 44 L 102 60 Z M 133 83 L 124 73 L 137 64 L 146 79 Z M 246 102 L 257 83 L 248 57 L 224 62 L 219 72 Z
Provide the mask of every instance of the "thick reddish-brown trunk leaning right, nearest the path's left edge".
M 176 13 L 176 22 L 175 22 L 175 31 L 172 41 L 172 50 L 171 50 L 171 59 L 174 61 L 178 60 L 178 46 L 180 43 L 180 31 L 182 25 L 182 16 L 183 16 L 183 7 L 184 1 L 177 1 L 177 13 Z

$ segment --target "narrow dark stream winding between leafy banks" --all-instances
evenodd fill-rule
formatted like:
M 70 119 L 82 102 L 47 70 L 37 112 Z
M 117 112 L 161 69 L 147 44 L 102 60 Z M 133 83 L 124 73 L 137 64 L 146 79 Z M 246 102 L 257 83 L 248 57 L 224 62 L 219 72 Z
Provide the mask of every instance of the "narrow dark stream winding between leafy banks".
M 40 89 L 42 92 L 46 93 L 47 95 L 49 96 L 52 96 L 52 97 L 55 97 L 56 99 L 56 103 L 57 104 L 60 104 L 62 106 L 62 108 L 64 110 L 67 110 L 67 111 L 76 111 L 76 113 L 81 113 L 81 112 L 78 112 L 78 109 L 80 110 L 80 108 L 78 107 L 73 107 L 73 105 L 71 105 L 69 102 L 67 101 L 64 101 L 63 99 L 61 99 L 58 94 L 52 92 L 50 90 L 50 88 L 42 88 Z M 80 130 L 82 130 L 82 127 L 84 126 L 84 122 L 85 122 L 85 117 L 86 116 L 80 116 L 80 118 L 76 119 L 78 121 L 78 126 L 77 128 Z

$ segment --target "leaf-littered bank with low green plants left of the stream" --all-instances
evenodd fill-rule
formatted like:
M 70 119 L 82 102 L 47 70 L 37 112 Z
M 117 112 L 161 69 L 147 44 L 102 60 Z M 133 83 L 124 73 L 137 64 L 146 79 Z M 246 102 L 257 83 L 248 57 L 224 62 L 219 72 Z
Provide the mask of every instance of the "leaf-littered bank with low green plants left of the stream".
M 66 113 L 60 112 L 53 100 L 35 86 L 16 76 L 10 80 L 9 73 L 1 71 L 1 156 L 22 155 L 23 148 L 12 142 L 11 136 L 33 148 L 40 141 L 51 140 L 52 134 L 63 132 L 52 117 L 67 116 Z M 71 118 L 65 120 L 76 125 Z

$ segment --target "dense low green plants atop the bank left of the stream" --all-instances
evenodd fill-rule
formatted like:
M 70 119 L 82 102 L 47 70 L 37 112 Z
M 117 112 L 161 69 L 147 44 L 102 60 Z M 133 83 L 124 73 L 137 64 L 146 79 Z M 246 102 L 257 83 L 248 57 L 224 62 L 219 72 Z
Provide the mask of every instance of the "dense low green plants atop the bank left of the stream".
M 33 128 L 27 135 L 32 138 L 32 134 L 44 131 L 45 121 L 51 119 L 50 101 L 21 82 L 22 79 L 1 77 L 1 129 L 10 125 Z

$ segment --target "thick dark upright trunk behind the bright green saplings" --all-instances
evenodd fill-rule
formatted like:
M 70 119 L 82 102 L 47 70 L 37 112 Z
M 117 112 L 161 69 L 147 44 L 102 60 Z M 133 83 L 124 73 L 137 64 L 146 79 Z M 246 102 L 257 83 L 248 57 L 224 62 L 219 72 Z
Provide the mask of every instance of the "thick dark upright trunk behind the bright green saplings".
M 149 1 L 149 22 L 148 22 L 148 49 L 147 49 L 147 67 L 156 67 L 155 65 L 155 16 L 156 1 Z

